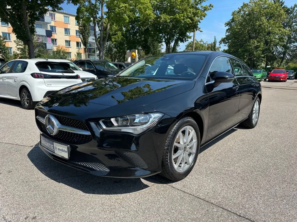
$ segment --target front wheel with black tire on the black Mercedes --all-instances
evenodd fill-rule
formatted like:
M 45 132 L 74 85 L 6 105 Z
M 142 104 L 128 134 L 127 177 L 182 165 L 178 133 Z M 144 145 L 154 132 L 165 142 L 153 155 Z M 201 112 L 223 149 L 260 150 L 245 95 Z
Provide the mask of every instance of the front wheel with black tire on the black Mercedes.
M 200 149 L 199 127 L 184 117 L 171 128 L 165 142 L 161 175 L 172 181 L 184 179 L 192 171 Z

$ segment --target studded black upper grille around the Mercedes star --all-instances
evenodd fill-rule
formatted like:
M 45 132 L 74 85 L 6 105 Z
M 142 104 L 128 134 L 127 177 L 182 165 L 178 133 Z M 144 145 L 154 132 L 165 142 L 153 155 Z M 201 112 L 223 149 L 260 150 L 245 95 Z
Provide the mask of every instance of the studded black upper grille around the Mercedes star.
M 45 116 L 47 114 L 48 113 L 45 111 L 35 109 L 35 117 L 37 115 L 39 115 L 39 116 L 42 116 L 43 118 L 45 118 Z M 71 119 L 71 118 L 67 118 L 67 117 L 59 116 L 59 115 L 54 115 L 54 116 L 64 126 L 71 126 L 71 127 L 89 131 L 88 127 L 86 126 L 86 123 L 84 123 L 83 121 L 75 120 L 75 119 Z M 54 140 L 57 140 L 57 141 L 61 141 L 66 144 L 84 144 L 84 143 L 88 143 L 89 141 L 92 140 L 91 135 L 83 135 L 83 134 L 79 134 L 79 133 L 71 133 L 71 132 L 61 131 L 61 130 L 59 131 L 59 133 L 57 135 L 52 136 L 46 130 L 45 124 L 43 124 L 37 120 L 37 125 L 40 128 L 40 130 L 43 133 L 45 133 L 45 135 L 47 135 L 48 137 L 50 137 Z

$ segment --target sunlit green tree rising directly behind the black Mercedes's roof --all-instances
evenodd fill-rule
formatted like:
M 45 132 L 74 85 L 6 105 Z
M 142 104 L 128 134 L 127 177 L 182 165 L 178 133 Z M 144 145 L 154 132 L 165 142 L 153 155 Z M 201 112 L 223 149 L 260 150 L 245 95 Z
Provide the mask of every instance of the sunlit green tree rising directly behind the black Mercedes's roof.
M 155 0 L 152 2 L 155 17 L 151 25 L 156 34 L 161 36 L 162 42 L 165 42 L 167 53 L 176 51 L 179 43 L 191 38 L 189 33 L 200 30 L 200 21 L 213 7 L 211 4 L 202 5 L 205 1 Z

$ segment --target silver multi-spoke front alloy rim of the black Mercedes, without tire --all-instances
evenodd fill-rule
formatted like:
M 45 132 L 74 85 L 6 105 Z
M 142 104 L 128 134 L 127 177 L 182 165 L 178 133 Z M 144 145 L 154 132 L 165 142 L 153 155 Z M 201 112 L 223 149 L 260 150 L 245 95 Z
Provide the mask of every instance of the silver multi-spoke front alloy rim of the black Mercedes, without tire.
M 174 169 L 185 172 L 193 163 L 197 152 L 197 134 L 192 126 L 184 126 L 174 140 L 172 163 Z

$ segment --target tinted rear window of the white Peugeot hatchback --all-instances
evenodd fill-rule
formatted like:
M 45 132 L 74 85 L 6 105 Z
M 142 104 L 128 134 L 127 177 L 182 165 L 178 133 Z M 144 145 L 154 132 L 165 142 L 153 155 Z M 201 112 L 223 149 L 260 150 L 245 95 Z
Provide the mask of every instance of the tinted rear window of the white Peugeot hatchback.
M 40 72 L 47 73 L 74 73 L 67 63 L 59 62 L 37 62 L 35 63 Z

